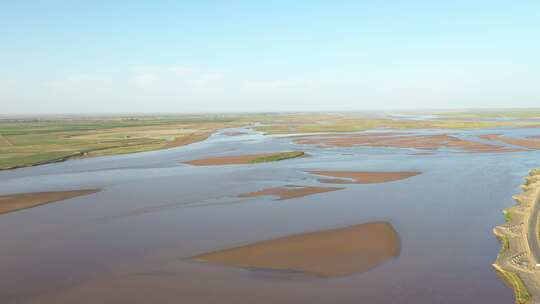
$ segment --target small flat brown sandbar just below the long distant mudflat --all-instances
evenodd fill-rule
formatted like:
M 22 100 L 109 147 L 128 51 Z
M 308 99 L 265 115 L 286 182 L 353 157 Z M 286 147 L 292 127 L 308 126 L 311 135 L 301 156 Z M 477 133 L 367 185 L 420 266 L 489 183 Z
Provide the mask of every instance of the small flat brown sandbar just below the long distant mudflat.
M 327 184 L 378 184 L 387 183 L 421 174 L 421 172 L 355 172 L 355 171 L 308 171 L 311 174 L 324 175 L 337 178 L 321 178 L 321 183 Z

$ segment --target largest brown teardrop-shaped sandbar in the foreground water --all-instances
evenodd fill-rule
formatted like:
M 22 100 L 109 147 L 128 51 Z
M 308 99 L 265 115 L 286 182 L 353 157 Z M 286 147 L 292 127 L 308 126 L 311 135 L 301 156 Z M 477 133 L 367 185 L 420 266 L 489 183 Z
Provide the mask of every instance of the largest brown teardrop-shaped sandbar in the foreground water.
M 331 277 L 367 271 L 397 257 L 399 251 L 399 237 L 392 225 L 372 222 L 263 241 L 193 259 Z

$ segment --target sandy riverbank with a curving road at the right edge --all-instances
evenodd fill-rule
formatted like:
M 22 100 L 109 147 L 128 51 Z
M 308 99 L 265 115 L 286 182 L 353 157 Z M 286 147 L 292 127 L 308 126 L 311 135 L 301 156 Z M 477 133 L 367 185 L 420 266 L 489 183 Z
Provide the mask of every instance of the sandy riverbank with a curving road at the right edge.
M 518 304 L 540 303 L 540 170 L 531 170 L 514 196 L 517 204 L 504 210 L 506 223 L 494 228 L 501 250 L 493 264 L 515 293 Z

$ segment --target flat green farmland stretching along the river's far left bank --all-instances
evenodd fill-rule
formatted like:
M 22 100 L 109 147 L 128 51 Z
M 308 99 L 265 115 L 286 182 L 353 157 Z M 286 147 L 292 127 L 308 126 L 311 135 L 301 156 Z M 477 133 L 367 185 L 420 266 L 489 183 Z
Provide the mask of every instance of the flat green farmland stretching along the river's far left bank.
M 232 116 L 2 120 L 0 169 L 171 148 L 237 125 Z

